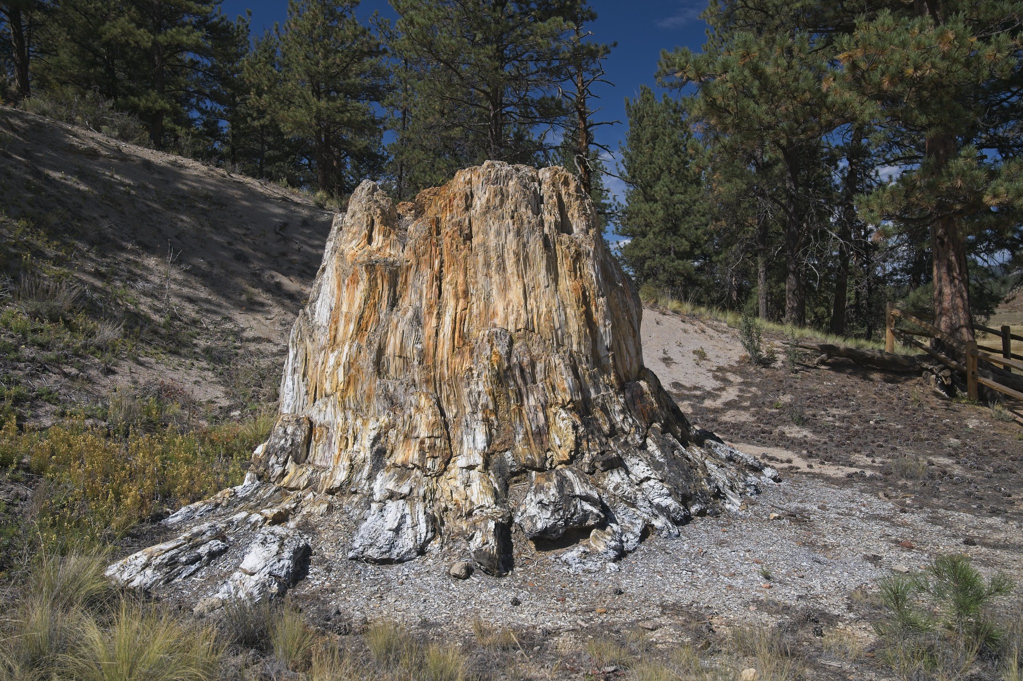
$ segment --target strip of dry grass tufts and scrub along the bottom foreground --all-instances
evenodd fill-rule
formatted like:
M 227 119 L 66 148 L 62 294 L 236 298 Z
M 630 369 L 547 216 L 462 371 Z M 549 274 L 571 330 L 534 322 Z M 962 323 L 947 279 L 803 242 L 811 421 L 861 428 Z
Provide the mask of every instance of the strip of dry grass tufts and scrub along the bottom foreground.
M 201 618 L 114 590 L 102 575 L 108 560 L 44 550 L 17 573 L 17 595 L 0 620 L 0 679 L 796 681 L 813 662 L 785 623 L 718 631 L 694 624 L 679 644 L 626 628 L 576 649 L 537 652 L 546 646 L 535 634 L 482 622 L 472 636 L 447 640 L 386 620 L 341 636 L 311 626 L 286 601 L 235 603 Z M 875 612 L 873 640 L 828 627 L 820 649 L 836 664 L 880 663 L 904 680 L 1018 681 L 1023 620 L 1009 605 L 1011 590 L 1002 576 L 982 578 L 965 556 L 942 556 L 863 592 Z

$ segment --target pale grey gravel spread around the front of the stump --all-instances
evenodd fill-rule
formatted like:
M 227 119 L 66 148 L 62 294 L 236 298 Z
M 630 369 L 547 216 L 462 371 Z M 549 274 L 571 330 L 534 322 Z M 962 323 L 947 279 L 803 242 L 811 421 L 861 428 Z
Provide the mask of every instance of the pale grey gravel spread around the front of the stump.
M 899 512 L 857 484 L 799 473 L 768 486 L 744 510 L 698 518 L 679 537 L 649 538 L 605 572 L 572 574 L 552 551 L 520 556 L 502 578 L 477 572 L 459 581 L 447 574 L 462 557 L 454 553 L 369 565 L 336 554 L 331 537 L 321 536 L 309 575 L 292 593 L 356 626 L 389 618 L 452 634 L 468 632 L 476 618 L 549 634 L 611 622 L 672 628 L 698 612 L 769 620 L 780 604 L 854 620 L 854 589 L 940 553 L 969 549 L 980 568 L 1019 577 L 1019 530 L 1003 515 Z M 965 532 L 977 545 L 963 544 Z

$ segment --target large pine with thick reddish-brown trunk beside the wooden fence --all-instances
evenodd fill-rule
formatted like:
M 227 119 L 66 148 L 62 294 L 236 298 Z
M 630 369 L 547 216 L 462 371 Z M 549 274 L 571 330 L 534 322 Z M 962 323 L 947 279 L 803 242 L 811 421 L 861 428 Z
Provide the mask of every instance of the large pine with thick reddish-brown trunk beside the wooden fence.
M 843 89 L 870 105 L 903 168 L 863 207 L 929 232 L 935 325 L 969 340 L 970 243 L 1019 234 L 1023 3 L 918 0 L 857 22 L 840 42 Z

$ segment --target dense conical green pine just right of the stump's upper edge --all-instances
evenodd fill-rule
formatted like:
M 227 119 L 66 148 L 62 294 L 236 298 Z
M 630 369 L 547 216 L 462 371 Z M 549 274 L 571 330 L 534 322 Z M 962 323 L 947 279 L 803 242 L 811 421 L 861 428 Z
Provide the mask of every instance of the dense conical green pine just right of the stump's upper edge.
M 620 256 L 640 285 L 705 301 L 708 213 L 699 142 L 683 106 L 650 88 L 626 100 L 629 129 L 621 149 L 625 206 L 617 232 Z M 694 296 L 696 293 L 696 296 Z

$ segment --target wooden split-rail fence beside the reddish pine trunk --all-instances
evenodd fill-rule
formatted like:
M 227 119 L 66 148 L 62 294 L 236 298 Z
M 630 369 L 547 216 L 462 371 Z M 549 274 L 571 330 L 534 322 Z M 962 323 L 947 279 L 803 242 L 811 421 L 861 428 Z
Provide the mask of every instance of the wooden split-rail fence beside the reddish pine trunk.
M 896 319 L 904 319 L 914 326 L 923 330 L 897 328 L 895 326 Z M 1008 395 L 1011 398 L 1023 401 L 1023 392 L 1010 388 L 1004 383 L 999 383 L 993 378 L 979 375 L 977 372 L 978 362 L 987 362 L 989 364 L 1000 366 L 1010 373 L 1012 373 L 1013 369 L 1023 373 L 1023 355 L 1017 355 L 1013 352 L 1013 340 L 1023 342 L 1023 336 L 1013 333 L 1009 326 L 1003 326 L 1000 329 L 993 329 L 988 326 L 975 324 L 973 328 L 974 330 L 984 331 L 985 333 L 989 333 L 997 338 L 1000 338 L 1002 348 L 981 346 L 978 345 L 976 340 L 963 343 L 962 340 L 948 335 L 941 329 L 931 324 L 929 321 L 911 315 L 905 310 L 899 310 L 889 303 L 885 310 L 885 351 L 889 353 L 895 352 L 896 338 L 906 345 L 913 346 L 914 348 L 923 350 L 949 369 L 966 374 L 966 392 L 967 397 L 971 400 L 977 399 L 979 390 L 978 387 L 984 385 L 992 391 L 997 391 L 1003 395 Z M 917 337 L 920 336 L 927 338 L 939 338 L 945 344 L 945 346 L 955 348 L 960 351 L 961 356 L 966 358 L 966 364 L 962 364 L 944 353 L 938 352 L 937 350 L 919 342 Z

